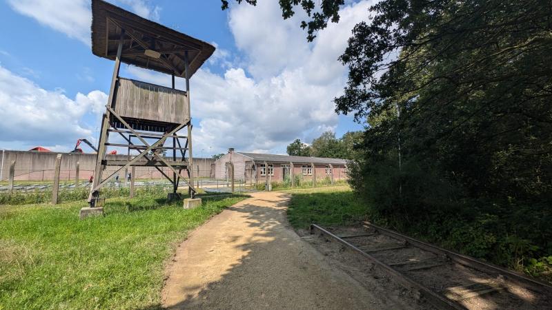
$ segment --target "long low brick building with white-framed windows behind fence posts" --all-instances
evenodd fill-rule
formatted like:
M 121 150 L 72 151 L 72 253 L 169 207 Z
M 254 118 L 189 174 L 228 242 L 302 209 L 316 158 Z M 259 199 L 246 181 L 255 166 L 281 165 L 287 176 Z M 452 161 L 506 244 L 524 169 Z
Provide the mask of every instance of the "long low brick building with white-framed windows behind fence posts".
M 234 152 L 234 149 L 215 161 L 215 178 L 227 177 L 230 161 L 234 165 L 235 179 L 247 183 L 264 182 L 267 177 L 282 181 L 291 174 L 317 181 L 331 178 L 332 174 L 334 180 L 346 178 L 344 159 Z

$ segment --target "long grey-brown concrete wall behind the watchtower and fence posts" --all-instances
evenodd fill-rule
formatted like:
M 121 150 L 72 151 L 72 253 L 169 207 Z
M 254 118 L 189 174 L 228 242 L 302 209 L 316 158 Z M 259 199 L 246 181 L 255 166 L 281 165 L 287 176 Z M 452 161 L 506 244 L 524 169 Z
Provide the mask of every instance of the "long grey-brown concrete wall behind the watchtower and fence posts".
M 29 151 L 1 151 L 0 169 L 1 180 L 8 180 L 10 173 L 10 164 L 15 161 L 15 180 L 52 180 L 54 177 L 54 167 L 56 156 L 59 153 L 50 152 L 29 152 Z M 61 171 L 59 178 L 61 180 L 75 180 L 77 161 L 80 166 L 79 179 L 88 180 L 93 174 L 96 164 L 96 154 L 79 153 L 61 153 Z M 126 155 L 108 155 L 110 159 L 126 159 Z M 3 165 L 1 165 L 3 159 Z M 199 166 L 199 177 L 212 177 L 211 165 L 215 161 L 213 158 L 194 158 L 194 174 L 197 176 L 197 166 Z M 107 167 L 103 172 L 106 177 L 117 169 L 117 167 Z M 163 169 L 166 174 L 172 175 L 168 168 Z M 130 169 L 129 169 L 130 171 Z M 184 172 L 182 172 L 184 176 Z M 124 180 L 125 172 L 119 173 L 119 180 Z M 136 167 L 136 178 L 161 178 L 161 173 L 154 167 Z

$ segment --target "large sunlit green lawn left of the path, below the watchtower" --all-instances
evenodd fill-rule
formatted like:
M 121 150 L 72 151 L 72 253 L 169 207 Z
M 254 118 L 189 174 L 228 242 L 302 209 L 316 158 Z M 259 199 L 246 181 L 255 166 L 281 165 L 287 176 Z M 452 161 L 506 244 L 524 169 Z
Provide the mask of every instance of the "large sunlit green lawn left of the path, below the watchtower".
M 85 201 L 0 205 L 0 309 L 159 307 L 164 264 L 189 231 L 244 196 L 184 210 L 162 196 L 110 198 L 103 218 Z

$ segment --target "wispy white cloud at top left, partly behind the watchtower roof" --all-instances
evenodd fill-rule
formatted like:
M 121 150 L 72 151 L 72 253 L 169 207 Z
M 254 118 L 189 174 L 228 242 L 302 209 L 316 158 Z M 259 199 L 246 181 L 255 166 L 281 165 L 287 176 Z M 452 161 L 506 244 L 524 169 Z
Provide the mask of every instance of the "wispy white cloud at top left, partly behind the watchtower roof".
M 116 0 L 141 17 L 159 21 L 161 8 L 151 6 L 146 0 Z M 67 34 L 90 45 L 92 11 L 90 0 L 8 0 L 8 4 L 20 14 L 36 19 L 42 25 Z

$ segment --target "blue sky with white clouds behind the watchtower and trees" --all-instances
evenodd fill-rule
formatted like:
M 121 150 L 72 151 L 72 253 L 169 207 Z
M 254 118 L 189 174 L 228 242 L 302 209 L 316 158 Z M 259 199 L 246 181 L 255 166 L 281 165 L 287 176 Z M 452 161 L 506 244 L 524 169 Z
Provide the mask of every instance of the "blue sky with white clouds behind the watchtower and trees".
M 210 146 L 284 153 L 295 138 L 362 129 L 337 116 L 332 99 L 346 81 L 337 56 L 368 2 L 346 6 L 313 43 L 298 27 L 302 14 L 283 21 L 277 1 L 226 11 L 215 0 L 110 2 L 217 46 L 191 81 L 195 155 Z M 77 138 L 94 141 L 113 63 L 90 51 L 90 1 L 0 2 L 0 37 L 0 148 L 69 150 Z M 128 65 L 121 75 L 170 83 Z

